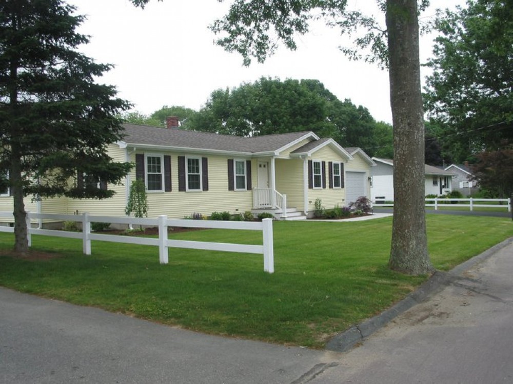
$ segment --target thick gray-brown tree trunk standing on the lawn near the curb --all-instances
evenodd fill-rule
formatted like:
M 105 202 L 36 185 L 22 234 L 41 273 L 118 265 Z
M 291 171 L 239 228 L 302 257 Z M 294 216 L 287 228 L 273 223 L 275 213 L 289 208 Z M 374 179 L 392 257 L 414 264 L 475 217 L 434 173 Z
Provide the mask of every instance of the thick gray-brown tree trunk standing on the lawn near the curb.
M 393 121 L 394 212 L 391 269 L 433 271 L 427 252 L 424 118 L 416 0 L 387 0 L 390 98 Z

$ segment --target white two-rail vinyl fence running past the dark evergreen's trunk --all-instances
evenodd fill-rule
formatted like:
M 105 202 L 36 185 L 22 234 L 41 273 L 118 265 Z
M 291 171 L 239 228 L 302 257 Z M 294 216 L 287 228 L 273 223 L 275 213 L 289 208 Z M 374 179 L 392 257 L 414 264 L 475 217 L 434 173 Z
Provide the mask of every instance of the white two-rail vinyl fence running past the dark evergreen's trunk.
M 0 218 L 10 218 L 11 212 L 0 212 Z M 82 223 L 82 232 L 70 232 L 53 229 L 31 228 L 30 221 L 49 219 L 52 221 L 74 221 Z M 0 220 L 1 221 L 1 220 Z M 113 234 L 91 232 L 91 223 L 112 223 L 112 224 L 132 224 L 153 226 L 159 228 L 159 238 L 143 238 L 135 236 L 116 236 Z M 159 247 L 160 263 L 168 263 L 168 248 L 189 248 L 204 249 L 225 252 L 259 253 L 264 255 L 264 271 L 274 272 L 274 250 L 272 219 L 264 219 L 262 222 L 227 222 L 227 221 L 208 221 L 208 220 L 182 220 L 168 219 L 162 215 L 156 219 L 133 218 L 133 217 L 113 217 L 113 216 L 93 216 L 87 213 L 83 215 L 53 215 L 53 214 L 34 214 L 27 212 L 27 226 L 29 246 L 32 245 L 32 234 L 41 234 L 43 236 L 55 236 L 72 239 L 82 239 L 83 252 L 91 254 L 91 240 L 110 241 L 115 243 L 153 245 Z M 167 237 L 168 227 L 189 227 L 189 228 L 218 228 L 218 229 L 242 229 L 262 231 L 263 245 L 249 244 L 229 244 L 212 243 L 203 241 L 169 240 Z M 14 232 L 13 227 L 0 226 L 0 232 Z

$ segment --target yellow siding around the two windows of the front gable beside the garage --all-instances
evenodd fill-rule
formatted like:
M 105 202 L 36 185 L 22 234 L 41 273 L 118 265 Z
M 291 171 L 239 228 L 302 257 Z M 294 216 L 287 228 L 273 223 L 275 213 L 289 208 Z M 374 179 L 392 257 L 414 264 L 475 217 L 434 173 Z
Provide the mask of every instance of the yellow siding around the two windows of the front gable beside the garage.
M 308 210 L 315 209 L 315 200 L 317 198 L 322 200 L 322 205 L 326 209 L 333 208 L 336 205 L 343 207 L 347 204 L 345 188 L 329 188 L 329 162 L 343 162 L 344 168 L 347 162 L 340 155 L 334 152 L 329 145 L 325 145 L 319 151 L 312 154 L 308 160 L 318 160 L 326 162 L 326 173 L 324 178 L 326 180 L 326 188 L 323 189 L 308 189 Z

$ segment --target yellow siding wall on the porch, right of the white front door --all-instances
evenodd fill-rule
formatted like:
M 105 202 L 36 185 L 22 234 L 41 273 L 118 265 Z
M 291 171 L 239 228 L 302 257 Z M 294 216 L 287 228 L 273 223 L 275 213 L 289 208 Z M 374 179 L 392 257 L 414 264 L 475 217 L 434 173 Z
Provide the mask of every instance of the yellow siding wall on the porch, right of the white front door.
M 276 190 L 282 195 L 287 195 L 288 208 L 303 210 L 303 160 L 277 159 L 274 164 L 276 167 Z

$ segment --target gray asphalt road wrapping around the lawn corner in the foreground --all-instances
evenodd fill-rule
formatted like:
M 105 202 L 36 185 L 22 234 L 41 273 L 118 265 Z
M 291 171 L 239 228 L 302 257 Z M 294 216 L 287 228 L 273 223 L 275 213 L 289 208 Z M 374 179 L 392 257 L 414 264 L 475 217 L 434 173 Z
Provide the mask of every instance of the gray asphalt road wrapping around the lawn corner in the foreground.
M 345 353 L 204 335 L 0 288 L 0 383 L 513 382 L 513 243 L 467 265 Z

